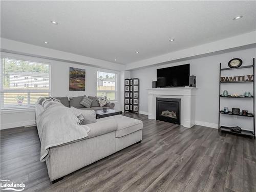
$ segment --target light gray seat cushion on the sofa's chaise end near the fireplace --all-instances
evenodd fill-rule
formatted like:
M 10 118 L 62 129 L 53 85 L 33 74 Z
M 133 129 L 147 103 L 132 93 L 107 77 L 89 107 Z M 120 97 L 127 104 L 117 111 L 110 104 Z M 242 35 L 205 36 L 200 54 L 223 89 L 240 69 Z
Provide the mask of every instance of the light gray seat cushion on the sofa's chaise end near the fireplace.
M 104 121 L 106 119 L 116 120 L 117 122 L 116 137 L 123 137 L 125 135 L 131 134 L 143 128 L 143 122 L 141 120 L 125 117 L 122 115 L 114 115 L 110 117 L 100 118 L 100 119 L 97 119 L 97 122 Z

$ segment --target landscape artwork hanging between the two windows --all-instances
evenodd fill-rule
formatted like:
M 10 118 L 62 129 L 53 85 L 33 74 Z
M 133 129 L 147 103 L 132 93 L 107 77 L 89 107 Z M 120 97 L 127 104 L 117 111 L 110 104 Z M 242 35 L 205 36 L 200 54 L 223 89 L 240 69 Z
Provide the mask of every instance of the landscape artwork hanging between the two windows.
M 69 68 L 69 91 L 86 91 L 86 70 Z

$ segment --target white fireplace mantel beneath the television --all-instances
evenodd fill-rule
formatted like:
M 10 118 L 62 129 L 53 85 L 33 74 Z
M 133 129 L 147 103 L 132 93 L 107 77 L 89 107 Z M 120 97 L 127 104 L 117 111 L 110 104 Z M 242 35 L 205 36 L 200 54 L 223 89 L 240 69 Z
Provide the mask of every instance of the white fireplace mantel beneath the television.
M 197 88 L 153 88 L 148 90 L 148 119 L 156 119 L 156 98 L 181 99 L 180 124 L 195 125 Z

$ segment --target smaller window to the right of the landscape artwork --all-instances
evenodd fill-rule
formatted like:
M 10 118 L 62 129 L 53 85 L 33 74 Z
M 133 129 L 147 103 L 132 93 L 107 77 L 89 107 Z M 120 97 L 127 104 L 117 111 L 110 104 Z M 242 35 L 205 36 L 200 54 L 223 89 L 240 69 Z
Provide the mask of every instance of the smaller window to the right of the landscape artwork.
M 107 81 L 109 83 L 106 83 Z M 106 96 L 110 101 L 117 100 L 117 74 L 97 72 L 97 96 Z

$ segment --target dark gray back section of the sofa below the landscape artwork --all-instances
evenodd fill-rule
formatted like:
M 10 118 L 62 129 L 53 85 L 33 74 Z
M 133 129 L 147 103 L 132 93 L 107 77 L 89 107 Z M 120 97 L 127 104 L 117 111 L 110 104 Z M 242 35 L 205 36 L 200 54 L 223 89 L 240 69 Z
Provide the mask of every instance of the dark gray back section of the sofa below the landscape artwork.
M 81 109 L 81 110 L 102 110 L 103 106 L 100 106 L 97 99 L 98 98 L 102 98 L 102 97 L 96 97 L 96 96 L 89 96 L 90 99 L 93 100 L 91 108 L 86 108 L 83 105 L 80 104 L 83 96 L 78 96 L 78 97 L 54 97 L 56 99 L 59 99 L 61 101 L 61 103 L 65 106 L 67 106 L 68 108 L 70 108 L 71 106 L 73 106 L 74 108 L 77 109 Z M 115 103 L 108 103 L 105 105 L 106 108 L 109 109 L 114 109 Z

